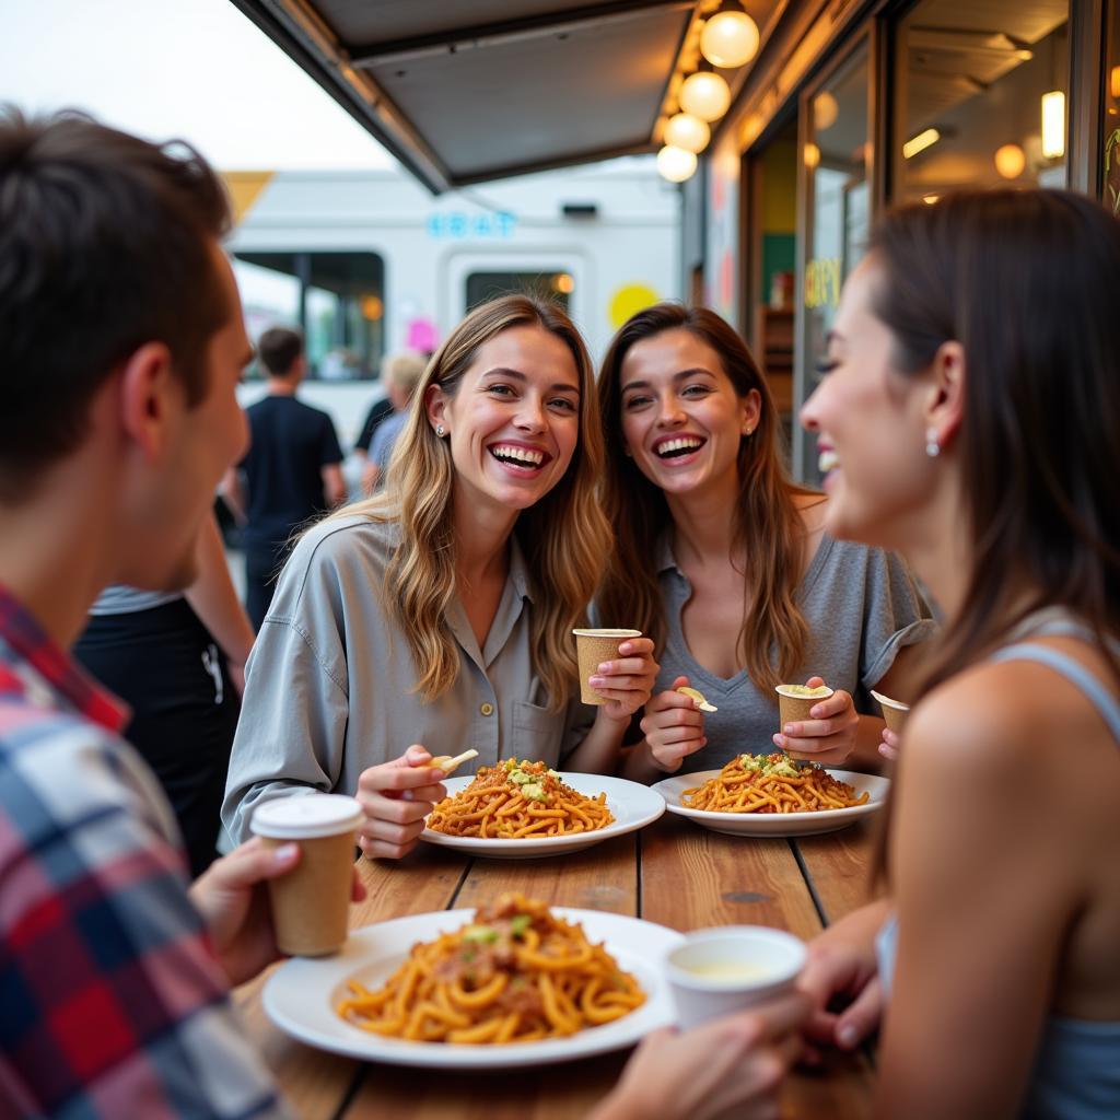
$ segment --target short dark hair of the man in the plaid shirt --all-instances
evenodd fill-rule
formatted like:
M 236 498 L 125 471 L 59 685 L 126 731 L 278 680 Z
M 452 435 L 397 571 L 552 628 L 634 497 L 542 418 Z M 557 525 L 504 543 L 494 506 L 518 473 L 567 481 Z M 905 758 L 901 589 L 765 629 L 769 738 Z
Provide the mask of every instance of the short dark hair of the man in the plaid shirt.
M 78 446 L 93 395 L 146 343 L 168 346 L 190 404 L 205 395 L 228 315 L 209 245 L 228 222 L 186 143 L 0 109 L 0 501 Z

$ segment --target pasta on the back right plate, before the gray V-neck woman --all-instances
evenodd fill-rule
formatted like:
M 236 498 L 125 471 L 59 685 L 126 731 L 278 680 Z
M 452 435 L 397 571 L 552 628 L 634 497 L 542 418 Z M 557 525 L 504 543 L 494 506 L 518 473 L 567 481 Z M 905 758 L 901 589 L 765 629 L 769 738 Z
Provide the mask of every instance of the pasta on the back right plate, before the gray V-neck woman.
M 711 813 L 811 813 L 866 804 L 847 782 L 816 763 L 797 766 L 788 755 L 739 755 L 713 778 L 681 794 L 681 804 Z

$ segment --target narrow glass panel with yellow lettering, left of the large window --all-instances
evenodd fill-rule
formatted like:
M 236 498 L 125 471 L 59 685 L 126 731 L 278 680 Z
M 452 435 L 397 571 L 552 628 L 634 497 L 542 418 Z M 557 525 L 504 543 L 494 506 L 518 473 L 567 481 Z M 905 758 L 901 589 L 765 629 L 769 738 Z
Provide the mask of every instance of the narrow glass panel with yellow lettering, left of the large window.
M 803 103 L 801 159 L 805 175 L 802 223 L 802 345 L 797 353 L 801 407 L 816 384 L 840 288 L 864 255 L 870 218 L 868 146 L 868 47 L 865 41 Z M 794 418 L 795 419 L 795 418 Z M 820 480 L 816 455 L 800 424 L 793 424 L 794 472 Z

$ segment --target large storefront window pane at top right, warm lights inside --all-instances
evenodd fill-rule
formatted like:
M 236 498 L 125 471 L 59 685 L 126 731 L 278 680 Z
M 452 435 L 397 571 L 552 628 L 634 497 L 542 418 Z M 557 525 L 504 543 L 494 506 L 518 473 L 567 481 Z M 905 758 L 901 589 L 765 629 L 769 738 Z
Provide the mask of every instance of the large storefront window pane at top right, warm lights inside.
M 1068 179 L 1068 0 L 922 0 L 895 28 L 892 200 Z

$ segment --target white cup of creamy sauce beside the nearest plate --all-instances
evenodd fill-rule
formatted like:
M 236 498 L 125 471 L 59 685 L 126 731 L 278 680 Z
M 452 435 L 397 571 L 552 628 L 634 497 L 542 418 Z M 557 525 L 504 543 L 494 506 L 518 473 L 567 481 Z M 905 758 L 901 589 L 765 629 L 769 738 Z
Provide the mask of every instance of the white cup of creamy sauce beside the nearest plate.
M 665 974 L 685 1029 L 754 1007 L 793 988 L 805 945 L 760 925 L 697 930 L 665 956 Z

